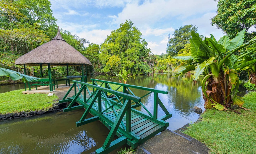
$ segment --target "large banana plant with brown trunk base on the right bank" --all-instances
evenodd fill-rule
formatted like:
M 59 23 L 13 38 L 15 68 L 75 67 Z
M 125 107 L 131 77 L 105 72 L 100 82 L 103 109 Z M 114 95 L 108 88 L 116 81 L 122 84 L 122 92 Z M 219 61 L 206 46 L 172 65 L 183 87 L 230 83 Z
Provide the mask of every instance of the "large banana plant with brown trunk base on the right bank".
M 243 43 L 245 29 L 237 33 L 233 39 L 223 36 L 219 41 L 213 35 L 202 40 L 194 31 L 191 32 L 191 36 L 191 56 L 174 57 L 187 60 L 187 63 L 182 63 L 175 69 L 177 75 L 194 71 L 194 82 L 200 74 L 204 75 L 202 92 L 206 109 L 214 107 L 222 111 L 230 108 L 232 104 L 242 106 L 243 100 L 236 95 L 239 92 L 239 78 L 235 69 L 241 67 L 238 65 L 238 59 L 248 53 L 239 57 L 235 53 L 254 42 L 256 36 L 247 43 Z

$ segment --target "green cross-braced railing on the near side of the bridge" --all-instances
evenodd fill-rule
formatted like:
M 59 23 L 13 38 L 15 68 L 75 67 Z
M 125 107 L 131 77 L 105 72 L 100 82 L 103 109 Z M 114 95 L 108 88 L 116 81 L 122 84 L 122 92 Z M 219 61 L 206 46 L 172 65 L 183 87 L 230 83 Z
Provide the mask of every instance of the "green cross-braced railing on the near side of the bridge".
M 76 110 L 79 108 L 86 108 L 81 119 L 76 122 L 77 126 L 81 126 L 81 125 L 84 125 L 87 123 L 91 123 L 93 121 L 97 121 L 97 120 L 99 120 L 99 118 L 104 119 L 104 121 L 106 121 L 107 123 L 112 125 L 112 128 L 110 130 L 109 135 L 107 136 L 107 139 L 105 140 L 102 148 L 99 148 L 97 150 L 97 153 L 107 153 L 108 149 L 113 150 L 114 147 L 118 147 L 118 146 L 126 144 L 127 139 L 129 139 L 129 140 L 133 139 L 137 143 L 140 143 L 141 138 L 139 136 L 137 136 L 136 134 L 132 133 L 132 131 L 131 131 L 131 111 L 132 111 L 132 101 L 140 102 L 141 98 L 127 94 L 127 93 L 114 91 L 109 88 L 104 88 L 101 86 L 84 83 L 81 81 L 73 80 L 73 82 L 74 83 L 70 87 L 67 94 L 64 96 L 64 98 L 61 101 L 59 101 L 60 103 L 71 101 L 69 106 L 67 108 L 64 108 L 63 111 L 67 112 L 67 111 L 72 111 L 72 110 Z M 80 87 L 79 87 L 79 84 L 80 84 Z M 89 91 L 88 87 L 93 88 L 94 91 L 91 93 Z M 67 96 L 72 91 L 72 89 L 74 89 L 75 95 L 72 98 L 67 98 Z M 81 95 L 82 93 L 83 93 L 83 95 Z M 89 94 L 89 98 L 86 98 L 87 93 Z M 119 101 L 116 101 L 114 104 L 112 104 L 113 102 L 109 101 L 112 99 L 108 98 L 106 96 L 106 93 L 112 93 L 115 96 L 117 96 L 118 99 L 119 98 L 122 98 L 122 99 L 119 99 Z M 105 109 L 104 111 L 102 111 L 102 97 L 103 97 L 103 99 L 106 99 L 107 103 L 109 104 L 109 108 Z M 77 102 L 78 100 L 81 105 L 73 106 L 74 103 Z M 121 103 L 122 101 L 124 103 Z M 96 104 L 96 102 L 97 102 L 97 104 Z M 119 114 L 117 114 L 117 112 L 114 109 L 114 106 L 117 104 L 119 106 L 122 106 Z M 112 120 L 112 119 L 108 118 L 107 115 L 104 114 L 104 112 L 109 111 L 109 109 L 111 109 L 116 114 L 116 116 L 117 116 L 116 120 Z M 90 110 L 96 110 L 97 116 L 86 119 L 86 116 L 88 115 Z M 126 115 L 126 125 L 124 125 L 124 123 L 122 122 L 124 115 Z M 125 135 L 118 138 L 117 140 L 112 141 L 114 135 L 117 133 L 117 130 L 119 130 L 122 134 L 125 134 Z

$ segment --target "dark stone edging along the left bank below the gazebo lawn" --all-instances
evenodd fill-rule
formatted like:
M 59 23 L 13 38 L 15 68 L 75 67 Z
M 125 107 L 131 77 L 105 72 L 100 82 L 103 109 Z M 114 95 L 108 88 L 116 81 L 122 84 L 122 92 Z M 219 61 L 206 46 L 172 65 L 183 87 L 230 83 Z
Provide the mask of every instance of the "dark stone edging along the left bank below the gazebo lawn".
M 6 114 L 0 114 L 0 121 L 1 120 L 11 120 L 11 119 L 17 119 L 21 117 L 32 117 L 36 115 L 41 115 L 45 113 L 51 113 L 51 112 L 57 112 L 57 111 L 63 111 L 63 108 L 67 108 L 67 106 L 70 104 L 70 102 L 67 103 L 53 103 L 53 106 L 48 110 L 39 110 L 39 111 L 21 111 L 18 113 L 6 113 Z

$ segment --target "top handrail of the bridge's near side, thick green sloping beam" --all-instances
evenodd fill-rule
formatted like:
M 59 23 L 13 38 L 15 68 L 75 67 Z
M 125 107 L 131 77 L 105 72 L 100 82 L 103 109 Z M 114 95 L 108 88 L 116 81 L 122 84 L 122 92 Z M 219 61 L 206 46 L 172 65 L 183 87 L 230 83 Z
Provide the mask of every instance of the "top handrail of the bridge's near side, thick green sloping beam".
M 133 95 L 130 95 L 130 94 L 127 94 L 127 93 L 122 93 L 122 92 L 119 92 L 119 91 L 114 91 L 114 90 L 111 90 L 111 89 L 108 89 L 108 88 L 104 88 L 104 87 L 100 87 L 100 86 L 95 86 L 95 85 L 92 85 L 92 84 L 89 84 L 89 83 L 85 83 L 85 82 L 81 82 L 81 81 L 73 80 L 73 82 L 74 83 L 79 83 L 79 84 L 84 85 L 84 86 L 89 86 L 89 87 L 92 87 L 92 88 L 95 88 L 95 89 L 98 89 L 98 90 L 101 90 L 101 91 L 105 91 L 105 92 L 108 92 L 108 93 L 112 93 L 114 95 L 118 95 L 118 96 L 127 98 L 127 99 L 132 100 L 132 101 L 136 101 L 136 102 L 140 102 L 141 101 L 141 98 L 138 97 L 138 96 L 133 96 Z

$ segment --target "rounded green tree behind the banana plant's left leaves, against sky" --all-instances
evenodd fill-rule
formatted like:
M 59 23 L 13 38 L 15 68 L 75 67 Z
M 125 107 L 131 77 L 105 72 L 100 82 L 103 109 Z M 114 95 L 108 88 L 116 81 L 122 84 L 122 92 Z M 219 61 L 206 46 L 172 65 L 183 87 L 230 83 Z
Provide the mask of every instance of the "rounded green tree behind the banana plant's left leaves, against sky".
M 169 56 L 176 56 L 178 52 L 184 48 L 185 44 L 189 43 L 191 31 L 197 32 L 197 27 L 190 24 L 175 29 L 172 34 L 173 37 L 169 41 L 169 48 L 167 49 Z

